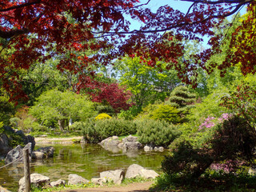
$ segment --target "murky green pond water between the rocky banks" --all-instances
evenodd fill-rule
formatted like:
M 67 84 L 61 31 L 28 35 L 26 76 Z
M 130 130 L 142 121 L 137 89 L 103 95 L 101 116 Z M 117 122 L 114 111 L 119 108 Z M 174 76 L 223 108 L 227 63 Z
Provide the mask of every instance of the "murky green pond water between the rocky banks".
M 32 161 L 30 173 L 43 174 L 56 181 L 62 178 L 67 182 L 69 174 L 78 174 L 90 180 L 98 178 L 99 173 L 105 170 L 125 169 L 136 163 L 146 169 L 152 169 L 159 173 L 164 152 L 137 152 L 105 150 L 97 144 L 37 144 L 42 146 L 54 146 L 54 158 Z M 23 177 L 23 166 L 7 166 L 0 170 L 0 186 L 11 191 L 18 191 L 18 181 Z

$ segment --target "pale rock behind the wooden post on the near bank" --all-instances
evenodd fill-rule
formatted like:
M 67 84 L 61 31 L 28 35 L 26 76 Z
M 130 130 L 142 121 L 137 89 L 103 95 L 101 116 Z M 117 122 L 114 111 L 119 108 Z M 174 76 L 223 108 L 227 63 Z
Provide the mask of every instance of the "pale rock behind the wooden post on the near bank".
M 50 178 L 42 174 L 30 174 L 30 183 L 36 187 L 45 186 L 50 182 Z M 25 190 L 25 178 L 21 178 L 18 182 L 19 189 L 18 192 L 23 192 Z

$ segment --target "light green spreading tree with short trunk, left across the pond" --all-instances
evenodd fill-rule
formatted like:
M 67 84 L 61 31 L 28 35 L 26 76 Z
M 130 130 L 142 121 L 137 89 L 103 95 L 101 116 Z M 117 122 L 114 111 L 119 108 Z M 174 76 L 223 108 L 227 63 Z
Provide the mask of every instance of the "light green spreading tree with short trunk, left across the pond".
M 67 120 L 86 121 L 96 114 L 93 102 L 86 97 L 71 91 L 48 90 L 39 96 L 30 114 L 41 124 L 52 126 L 58 122 L 60 130 L 64 130 Z

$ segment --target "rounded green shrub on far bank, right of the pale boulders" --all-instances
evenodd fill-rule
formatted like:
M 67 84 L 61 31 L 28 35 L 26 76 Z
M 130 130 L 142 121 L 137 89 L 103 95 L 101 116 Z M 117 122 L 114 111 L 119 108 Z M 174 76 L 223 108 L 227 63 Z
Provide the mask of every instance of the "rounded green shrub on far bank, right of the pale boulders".
M 165 121 L 150 120 L 136 121 L 139 142 L 152 146 L 169 146 L 180 134 L 177 126 Z

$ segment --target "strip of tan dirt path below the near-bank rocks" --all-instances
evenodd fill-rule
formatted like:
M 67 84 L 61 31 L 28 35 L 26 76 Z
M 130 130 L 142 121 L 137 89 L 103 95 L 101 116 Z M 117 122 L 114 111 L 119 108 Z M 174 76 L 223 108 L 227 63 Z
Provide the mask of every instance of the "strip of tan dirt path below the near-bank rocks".
M 127 186 L 106 186 L 79 190 L 61 190 L 61 192 L 148 192 L 153 182 L 136 182 Z

